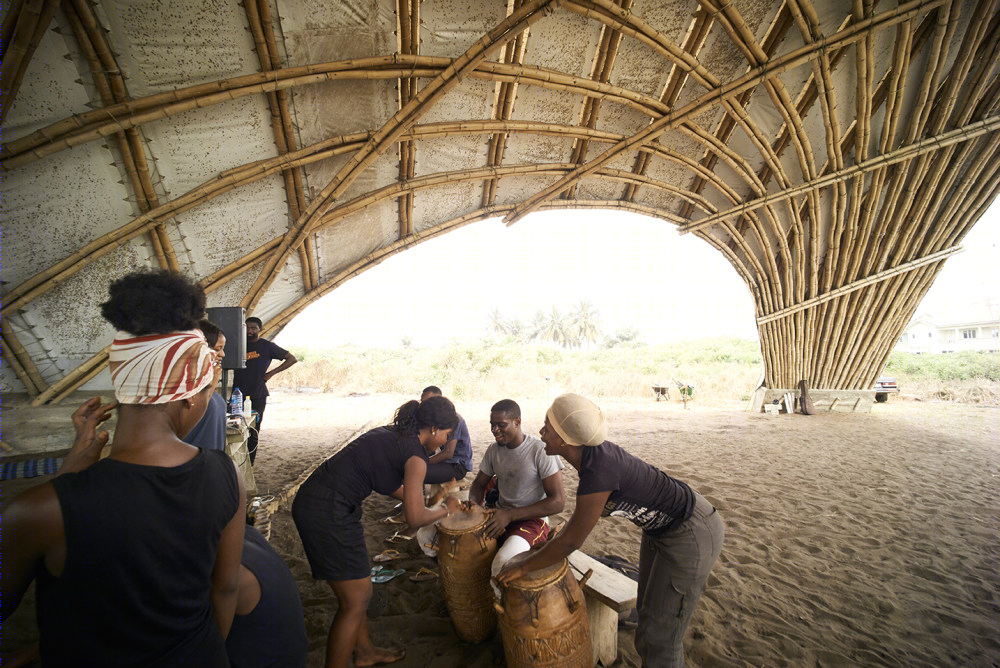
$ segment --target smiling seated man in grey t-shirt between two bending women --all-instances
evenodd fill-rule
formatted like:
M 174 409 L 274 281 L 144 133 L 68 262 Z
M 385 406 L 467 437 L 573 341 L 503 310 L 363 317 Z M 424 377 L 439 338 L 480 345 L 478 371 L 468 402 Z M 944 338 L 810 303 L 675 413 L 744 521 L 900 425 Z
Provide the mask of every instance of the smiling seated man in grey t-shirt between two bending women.
M 485 534 L 497 538 L 500 550 L 493 558 L 493 575 L 507 560 L 544 542 L 549 535 L 546 517 L 562 512 L 563 463 L 545 453 L 545 444 L 521 430 L 521 408 L 511 399 L 498 401 L 490 411 L 491 444 L 479 464 L 469 500 L 483 504 L 486 487 L 495 475 L 500 499 L 486 524 Z

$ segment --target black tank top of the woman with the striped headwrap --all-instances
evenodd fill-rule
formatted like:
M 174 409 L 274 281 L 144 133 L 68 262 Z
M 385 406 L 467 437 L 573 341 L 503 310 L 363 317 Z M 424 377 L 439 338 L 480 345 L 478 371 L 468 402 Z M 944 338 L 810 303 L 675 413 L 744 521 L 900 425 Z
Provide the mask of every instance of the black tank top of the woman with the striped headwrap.
M 201 450 L 174 467 L 104 459 L 52 480 L 66 565 L 36 573 L 43 666 L 228 666 L 212 570 L 236 471 Z

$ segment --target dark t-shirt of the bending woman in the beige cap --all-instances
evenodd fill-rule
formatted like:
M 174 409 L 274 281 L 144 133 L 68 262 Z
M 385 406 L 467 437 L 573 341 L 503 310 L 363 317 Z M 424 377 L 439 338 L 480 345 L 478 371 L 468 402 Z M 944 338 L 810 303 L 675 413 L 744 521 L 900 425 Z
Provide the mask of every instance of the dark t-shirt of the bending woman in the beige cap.
M 583 448 L 576 495 L 595 492 L 611 492 L 602 517 L 624 517 L 653 534 L 683 522 L 694 511 L 690 487 L 611 441 Z

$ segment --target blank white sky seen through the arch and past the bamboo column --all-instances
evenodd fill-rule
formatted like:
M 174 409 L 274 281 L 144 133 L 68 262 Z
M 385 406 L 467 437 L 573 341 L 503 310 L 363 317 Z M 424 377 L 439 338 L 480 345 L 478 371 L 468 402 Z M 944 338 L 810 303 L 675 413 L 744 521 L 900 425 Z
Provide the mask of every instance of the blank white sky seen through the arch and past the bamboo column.
M 1000 206 L 945 264 L 920 312 L 1000 301 Z M 635 328 L 660 343 L 757 338 L 753 300 L 736 271 L 694 235 L 636 214 L 535 213 L 512 227 L 483 221 L 389 258 L 317 300 L 278 336 L 285 346 L 399 347 L 481 339 L 498 308 L 528 323 L 589 300 L 602 334 Z

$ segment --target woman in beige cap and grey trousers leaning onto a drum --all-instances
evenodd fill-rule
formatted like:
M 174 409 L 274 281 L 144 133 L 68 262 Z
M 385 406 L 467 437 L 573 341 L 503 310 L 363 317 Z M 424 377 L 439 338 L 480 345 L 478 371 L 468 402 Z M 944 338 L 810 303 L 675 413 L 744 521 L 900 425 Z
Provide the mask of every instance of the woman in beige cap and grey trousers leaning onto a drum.
M 556 398 L 541 436 L 548 454 L 580 473 L 576 508 L 563 531 L 512 559 L 497 580 L 505 584 L 569 556 L 602 516 L 632 520 L 643 530 L 636 650 L 644 666 L 683 666 L 684 632 L 722 551 L 719 513 L 680 480 L 604 440 L 601 409 L 580 395 Z

